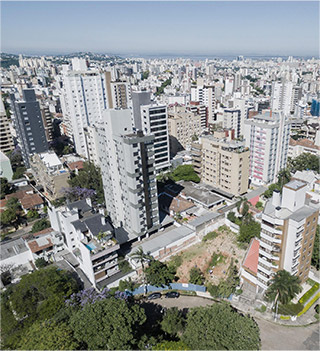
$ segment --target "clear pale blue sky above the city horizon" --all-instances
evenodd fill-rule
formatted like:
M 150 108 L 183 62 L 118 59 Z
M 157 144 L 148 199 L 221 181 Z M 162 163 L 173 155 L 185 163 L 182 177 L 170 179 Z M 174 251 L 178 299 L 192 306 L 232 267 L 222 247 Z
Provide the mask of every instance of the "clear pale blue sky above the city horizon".
M 4 2 L 1 51 L 319 56 L 319 2 Z

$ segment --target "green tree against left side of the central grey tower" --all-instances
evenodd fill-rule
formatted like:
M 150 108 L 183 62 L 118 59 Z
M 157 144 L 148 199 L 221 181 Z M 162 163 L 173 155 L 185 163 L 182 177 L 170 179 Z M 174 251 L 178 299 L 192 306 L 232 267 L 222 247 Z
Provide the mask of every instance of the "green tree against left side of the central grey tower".
M 104 203 L 101 170 L 92 162 L 84 162 L 83 169 L 79 170 L 78 175 L 73 175 L 73 177 L 69 179 L 69 184 L 71 187 L 95 190 L 96 195 L 94 200 L 99 204 Z

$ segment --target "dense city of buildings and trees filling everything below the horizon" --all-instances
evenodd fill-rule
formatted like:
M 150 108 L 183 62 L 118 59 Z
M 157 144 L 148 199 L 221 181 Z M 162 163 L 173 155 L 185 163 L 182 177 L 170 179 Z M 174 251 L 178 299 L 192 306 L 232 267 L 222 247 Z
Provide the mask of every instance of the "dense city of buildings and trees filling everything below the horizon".
M 319 349 L 319 57 L 0 62 L 2 349 Z

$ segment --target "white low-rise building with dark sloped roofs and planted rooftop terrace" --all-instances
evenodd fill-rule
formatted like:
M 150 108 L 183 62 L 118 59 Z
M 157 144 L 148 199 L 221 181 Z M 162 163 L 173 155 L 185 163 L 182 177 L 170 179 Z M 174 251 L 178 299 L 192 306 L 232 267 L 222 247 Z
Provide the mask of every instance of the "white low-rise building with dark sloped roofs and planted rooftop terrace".
M 89 200 L 48 207 L 51 227 L 63 234 L 73 260 L 96 287 L 119 272 L 120 246 L 112 225 L 94 212 Z

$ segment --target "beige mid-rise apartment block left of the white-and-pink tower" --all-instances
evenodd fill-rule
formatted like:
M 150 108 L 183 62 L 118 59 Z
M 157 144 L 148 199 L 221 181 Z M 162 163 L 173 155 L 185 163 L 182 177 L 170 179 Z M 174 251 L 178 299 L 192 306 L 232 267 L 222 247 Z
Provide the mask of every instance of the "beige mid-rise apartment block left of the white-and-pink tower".
M 230 131 L 216 131 L 192 145 L 193 165 L 201 180 L 232 195 L 248 190 L 249 149 L 232 140 Z

